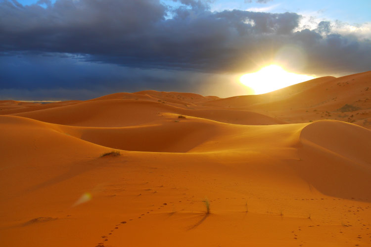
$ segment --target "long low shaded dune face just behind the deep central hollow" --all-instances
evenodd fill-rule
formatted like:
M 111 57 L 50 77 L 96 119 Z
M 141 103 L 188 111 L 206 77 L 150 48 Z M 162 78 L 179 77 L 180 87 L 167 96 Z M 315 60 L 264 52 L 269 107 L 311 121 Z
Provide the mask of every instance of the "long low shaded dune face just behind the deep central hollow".
M 263 114 L 238 110 L 188 110 L 141 100 L 99 100 L 40 111 L 14 114 L 46 123 L 91 127 L 123 127 L 161 121 L 174 113 L 230 124 L 284 124 Z

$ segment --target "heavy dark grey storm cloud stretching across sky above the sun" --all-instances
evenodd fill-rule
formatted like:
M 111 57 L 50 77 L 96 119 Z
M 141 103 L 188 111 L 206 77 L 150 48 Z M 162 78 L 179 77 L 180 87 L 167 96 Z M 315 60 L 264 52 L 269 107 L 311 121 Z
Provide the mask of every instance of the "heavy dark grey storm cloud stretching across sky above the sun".
M 370 41 L 329 34 L 327 22 L 316 30 L 294 32 L 301 18 L 296 13 L 210 12 L 206 1 L 174 1 L 184 5 L 172 9 L 159 0 L 40 0 L 44 8 L 3 0 L 0 51 L 70 53 L 127 67 L 224 73 L 254 70 L 274 59 L 281 46 L 295 44 L 310 59 L 303 72 L 359 72 L 371 64 Z

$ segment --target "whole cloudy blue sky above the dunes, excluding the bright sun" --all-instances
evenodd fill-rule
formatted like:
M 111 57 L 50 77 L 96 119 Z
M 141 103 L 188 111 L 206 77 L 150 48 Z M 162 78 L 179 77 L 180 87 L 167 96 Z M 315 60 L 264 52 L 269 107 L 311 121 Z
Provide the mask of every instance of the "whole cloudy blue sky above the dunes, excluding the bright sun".
M 162 90 L 229 97 L 246 74 L 371 70 L 370 0 L 0 0 L 0 100 Z

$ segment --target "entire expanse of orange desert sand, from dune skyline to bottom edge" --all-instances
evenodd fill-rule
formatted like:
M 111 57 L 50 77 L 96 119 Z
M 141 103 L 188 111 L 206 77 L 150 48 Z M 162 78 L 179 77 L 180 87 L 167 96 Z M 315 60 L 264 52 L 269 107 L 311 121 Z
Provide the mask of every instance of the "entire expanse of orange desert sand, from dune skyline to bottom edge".
M 371 246 L 371 72 L 0 115 L 4 247 Z

